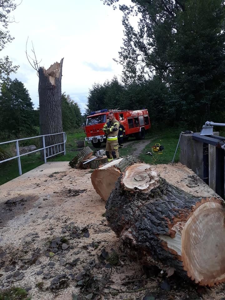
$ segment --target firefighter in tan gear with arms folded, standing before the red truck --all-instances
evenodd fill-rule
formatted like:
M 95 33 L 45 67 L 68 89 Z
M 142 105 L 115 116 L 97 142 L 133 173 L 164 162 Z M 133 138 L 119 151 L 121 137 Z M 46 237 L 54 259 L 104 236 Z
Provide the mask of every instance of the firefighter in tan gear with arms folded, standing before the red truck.
M 110 112 L 108 114 L 108 123 L 103 126 L 103 132 L 107 136 L 106 141 L 106 156 L 108 161 L 119 158 L 118 152 L 118 129 L 119 129 L 119 121 L 115 119 L 114 113 Z

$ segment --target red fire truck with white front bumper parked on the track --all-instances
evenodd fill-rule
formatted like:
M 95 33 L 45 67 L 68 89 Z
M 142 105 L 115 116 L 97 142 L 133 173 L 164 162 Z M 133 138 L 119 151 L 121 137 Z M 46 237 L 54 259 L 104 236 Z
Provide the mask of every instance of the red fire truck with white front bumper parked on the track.
M 92 143 L 95 148 L 99 148 L 101 143 L 106 143 L 106 136 L 103 126 L 107 122 L 109 112 L 113 112 L 115 118 L 125 128 L 125 138 L 134 136 L 136 139 L 144 139 L 145 132 L 151 127 L 148 110 L 108 110 L 102 109 L 91 112 L 86 119 L 84 132 L 85 141 Z

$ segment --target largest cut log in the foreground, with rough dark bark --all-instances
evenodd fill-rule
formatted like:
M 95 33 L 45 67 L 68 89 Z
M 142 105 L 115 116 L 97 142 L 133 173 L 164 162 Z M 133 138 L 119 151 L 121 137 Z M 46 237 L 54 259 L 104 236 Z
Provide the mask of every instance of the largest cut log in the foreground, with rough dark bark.
M 190 195 L 137 163 L 116 182 L 106 218 L 142 265 L 155 264 L 205 286 L 225 281 L 225 208 L 219 196 Z

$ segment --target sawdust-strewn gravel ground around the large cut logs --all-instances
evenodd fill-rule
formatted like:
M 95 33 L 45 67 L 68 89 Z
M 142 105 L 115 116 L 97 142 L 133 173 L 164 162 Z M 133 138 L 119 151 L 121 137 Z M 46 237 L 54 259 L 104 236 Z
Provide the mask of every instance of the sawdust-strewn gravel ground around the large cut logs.
M 181 164 L 153 168 L 192 194 L 215 195 Z M 26 288 L 32 300 L 72 300 L 82 287 L 76 278 L 83 278 L 100 299 L 225 299 L 224 284 L 196 287 L 154 268 L 146 279 L 107 226 L 91 172 L 47 163 L 0 187 L 1 289 Z

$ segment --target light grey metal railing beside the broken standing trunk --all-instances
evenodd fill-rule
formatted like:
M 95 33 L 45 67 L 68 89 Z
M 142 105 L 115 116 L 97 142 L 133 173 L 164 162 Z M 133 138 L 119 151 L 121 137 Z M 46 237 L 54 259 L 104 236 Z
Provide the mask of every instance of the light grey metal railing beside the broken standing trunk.
M 53 136 L 53 135 L 57 136 L 59 134 L 62 134 L 62 137 L 63 137 L 63 142 L 62 143 L 57 143 L 57 144 L 53 144 L 53 145 L 50 145 L 50 146 L 45 146 L 45 137 Z M 29 139 L 32 139 L 32 138 L 42 138 L 43 147 L 39 148 L 39 149 L 36 149 L 36 150 L 33 150 L 33 151 L 30 151 L 30 152 L 27 152 L 27 153 L 20 154 L 19 153 L 19 141 L 29 140 Z M 0 143 L 0 145 L 15 142 L 16 143 L 17 155 L 14 156 L 14 157 L 8 158 L 8 159 L 4 159 L 4 160 L 0 161 L 0 163 L 4 163 L 4 162 L 7 162 L 7 161 L 12 160 L 14 158 L 17 158 L 19 174 L 22 175 L 22 168 L 21 168 L 21 162 L 20 162 L 21 156 L 43 150 L 44 162 L 47 163 L 47 158 L 53 157 L 53 156 L 55 156 L 57 154 L 60 154 L 60 153 L 63 153 L 63 155 L 66 155 L 66 140 L 67 140 L 66 133 L 65 132 L 60 132 L 60 133 L 53 133 L 53 134 L 38 135 L 36 137 L 31 137 L 31 138 L 20 138 L 20 139 L 17 139 L 17 140 L 2 142 L 2 143 Z

